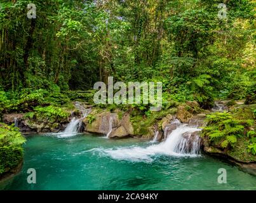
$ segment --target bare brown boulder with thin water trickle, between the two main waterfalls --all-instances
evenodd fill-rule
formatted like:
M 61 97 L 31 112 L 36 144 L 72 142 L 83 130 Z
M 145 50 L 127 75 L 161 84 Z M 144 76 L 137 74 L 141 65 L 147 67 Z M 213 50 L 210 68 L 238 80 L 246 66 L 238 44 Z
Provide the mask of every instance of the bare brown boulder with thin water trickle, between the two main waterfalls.
M 95 115 L 95 121 L 91 124 L 84 119 L 86 131 L 90 133 L 109 134 L 109 138 L 124 138 L 133 135 L 133 126 L 130 122 L 130 115 L 118 116 L 117 112 L 101 112 Z

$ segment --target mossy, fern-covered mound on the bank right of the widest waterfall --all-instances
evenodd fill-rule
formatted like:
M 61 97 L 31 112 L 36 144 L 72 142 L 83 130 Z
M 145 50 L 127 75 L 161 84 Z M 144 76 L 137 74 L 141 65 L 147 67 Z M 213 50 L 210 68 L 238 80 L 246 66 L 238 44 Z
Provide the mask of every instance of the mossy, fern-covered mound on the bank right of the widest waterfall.
M 202 134 L 207 145 L 222 148 L 222 153 L 241 162 L 256 161 L 255 152 L 250 150 L 255 143 L 254 109 L 255 105 L 239 105 L 230 113 L 208 115 L 208 126 Z

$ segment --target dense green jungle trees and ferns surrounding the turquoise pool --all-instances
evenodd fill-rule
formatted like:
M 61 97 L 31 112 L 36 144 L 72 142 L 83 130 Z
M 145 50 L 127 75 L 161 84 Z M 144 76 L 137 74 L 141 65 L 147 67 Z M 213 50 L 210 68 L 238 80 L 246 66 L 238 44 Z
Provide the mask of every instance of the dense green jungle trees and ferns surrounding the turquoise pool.
M 36 18 L 27 16 L 29 3 Z M 223 18 L 220 3 L 227 8 Z M 92 103 L 93 84 L 109 76 L 163 82 L 164 110 L 187 100 L 205 109 L 216 99 L 252 105 L 255 33 L 253 0 L 1 0 L 0 121 L 13 112 L 61 121 L 71 101 Z M 149 105 L 132 107 L 151 115 Z M 255 154 L 253 119 L 210 115 L 205 132 L 222 148 L 246 136 L 246 150 Z M 2 152 L 3 140 L 10 151 Z M 17 129 L 1 124 L 0 153 L 20 157 L 23 141 Z M 2 166 L 17 164 L 8 162 L 10 154 L 0 174 Z

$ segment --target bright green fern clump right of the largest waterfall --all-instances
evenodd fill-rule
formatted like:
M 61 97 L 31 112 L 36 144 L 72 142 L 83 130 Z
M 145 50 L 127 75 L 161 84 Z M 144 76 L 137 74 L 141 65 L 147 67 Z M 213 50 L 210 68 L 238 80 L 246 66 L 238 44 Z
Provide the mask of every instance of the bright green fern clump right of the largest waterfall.
M 209 138 L 214 147 L 222 148 L 236 159 L 252 159 L 255 155 L 255 121 L 238 119 L 231 113 L 214 113 L 207 117 L 208 126 L 202 136 Z

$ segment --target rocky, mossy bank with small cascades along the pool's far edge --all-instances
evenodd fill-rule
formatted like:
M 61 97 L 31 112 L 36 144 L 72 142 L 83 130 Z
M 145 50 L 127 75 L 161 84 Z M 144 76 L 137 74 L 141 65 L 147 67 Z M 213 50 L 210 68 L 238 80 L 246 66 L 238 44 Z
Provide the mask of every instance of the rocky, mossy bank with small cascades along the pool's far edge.
M 187 126 L 196 128 L 206 126 L 209 128 L 212 124 L 207 119 L 208 115 L 217 115 L 222 110 L 229 110 L 230 115 L 234 114 L 244 124 L 245 121 L 251 122 L 251 126 L 245 126 L 243 132 L 240 132 L 245 136 L 236 138 L 236 143 L 227 143 L 227 146 L 222 146 L 221 143 L 224 141 L 221 141 L 222 138 L 218 138 L 217 142 L 213 141 L 207 134 L 201 138 L 206 130 L 203 130 L 203 133 L 201 131 L 184 132 L 182 138 L 186 144 L 183 151 L 189 154 L 193 150 L 193 143 L 196 143 L 206 154 L 227 159 L 242 169 L 248 169 L 249 173 L 256 174 L 256 156 L 252 152 L 250 153 L 248 148 L 250 139 L 254 138 L 255 134 L 246 136 L 249 131 L 252 133 L 255 128 L 255 115 L 253 113 L 255 105 L 235 103 L 235 105 L 227 107 L 223 105 L 224 102 L 220 103 L 222 105 L 218 104 L 219 107 L 216 106 L 213 111 L 209 111 L 201 109 L 196 101 L 187 101 L 183 104 L 173 102 L 161 112 L 151 112 L 150 115 L 145 116 L 136 108 L 126 110 L 117 107 L 99 108 L 76 101 L 72 103 L 69 110 L 67 108 L 59 110 L 59 112 L 63 112 L 62 114 L 59 113 L 60 115 L 65 115 L 61 119 L 58 114 L 55 117 L 51 116 L 51 119 L 44 118 L 44 115 L 40 114 L 40 119 L 37 119 L 38 115 L 35 115 L 37 113 L 34 113 L 32 117 L 27 116 L 27 114 L 4 114 L 3 118 L 8 124 L 14 123 L 22 133 L 64 132 L 60 136 L 66 136 L 67 133 L 87 132 L 104 134 L 111 139 L 134 137 L 142 140 L 165 141 L 180 124 L 187 124 Z M 216 108 L 219 108 L 220 111 Z M 214 112 L 217 113 L 214 114 Z M 223 130 L 225 131 L 225 129 Z

